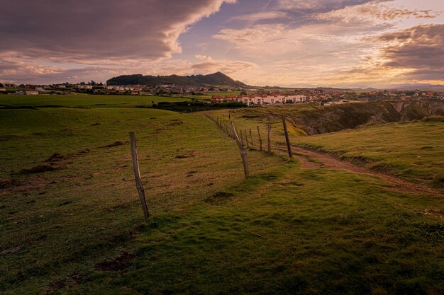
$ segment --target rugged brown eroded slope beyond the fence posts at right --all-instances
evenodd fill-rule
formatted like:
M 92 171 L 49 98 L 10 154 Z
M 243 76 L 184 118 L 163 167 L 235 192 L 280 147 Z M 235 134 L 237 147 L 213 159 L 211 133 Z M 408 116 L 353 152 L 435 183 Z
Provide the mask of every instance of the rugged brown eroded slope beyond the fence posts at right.
M 244 117 L 262 117 L 277 120 L 282 115 L 306 134 L 337 132 L 365 125 L 389 122 L 421 120 L 433 115 L 444 115 L 443 101 L 372 101 L 368 103 L 345 103 L 343 105 L 285 105 L 271 108 L 238 110 Z

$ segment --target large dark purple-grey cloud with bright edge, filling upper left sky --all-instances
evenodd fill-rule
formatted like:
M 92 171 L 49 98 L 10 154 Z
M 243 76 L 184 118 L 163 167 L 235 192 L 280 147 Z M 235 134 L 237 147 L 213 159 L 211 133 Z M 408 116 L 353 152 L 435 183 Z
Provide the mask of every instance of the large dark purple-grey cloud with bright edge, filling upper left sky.
M 181 52 L 177 38 L 235 0 L 0 0 L 1 52 L 63 62 L 160 59 Z

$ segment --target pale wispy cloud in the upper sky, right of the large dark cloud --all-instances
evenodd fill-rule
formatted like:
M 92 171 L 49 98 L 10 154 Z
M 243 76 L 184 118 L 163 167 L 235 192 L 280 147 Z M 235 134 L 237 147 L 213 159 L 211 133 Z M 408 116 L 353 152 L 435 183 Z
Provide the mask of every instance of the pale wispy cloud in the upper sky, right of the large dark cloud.
M 384 27 L 376 27 L 380 30 Z M 318 54 L 344 52 L 350 47 L 363 45 L 362 38 L 374 33 L 373 25 L 350 27 L 337 23 L 314 23 L 292 28 L 284 23 L 251 25 L 239 29 L 222 29 L 213 38 L 224 40 L 245 57 L 287 59 Z

